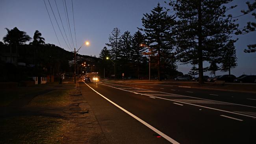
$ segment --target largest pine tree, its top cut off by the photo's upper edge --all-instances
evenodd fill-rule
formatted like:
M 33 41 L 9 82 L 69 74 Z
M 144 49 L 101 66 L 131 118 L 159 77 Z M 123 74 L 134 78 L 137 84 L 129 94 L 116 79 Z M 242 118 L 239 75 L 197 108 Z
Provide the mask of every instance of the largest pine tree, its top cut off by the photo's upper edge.
M 238 24 L 225 13 L 232 0 L 170 0 L 169 5 L 179 19 L 176 31 L 176 52 L 182 63 L 197 63 L 199 83 L 204 83 L 203 61 L 218 59 L 221 50 L 237 30 Z

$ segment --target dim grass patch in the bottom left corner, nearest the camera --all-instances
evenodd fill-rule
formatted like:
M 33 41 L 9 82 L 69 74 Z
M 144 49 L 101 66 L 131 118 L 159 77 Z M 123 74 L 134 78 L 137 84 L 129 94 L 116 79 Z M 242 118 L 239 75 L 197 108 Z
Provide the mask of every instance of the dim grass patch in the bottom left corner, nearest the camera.
M 0 119 L 0 144 L 59 144 L 67 121 L 46 116 Z

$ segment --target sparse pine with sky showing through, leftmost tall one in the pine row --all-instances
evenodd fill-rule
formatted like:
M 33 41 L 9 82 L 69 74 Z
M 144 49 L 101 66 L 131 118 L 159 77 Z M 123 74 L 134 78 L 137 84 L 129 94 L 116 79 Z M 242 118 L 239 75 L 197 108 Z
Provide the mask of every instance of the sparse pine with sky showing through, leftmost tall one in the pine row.
M 106 43 L 109 46 L 111 52 L 111 58 L 113 60 L 117 60 L 120 58 L 120 51 L 121 51 L 121 32 L 118 28 L 114 28 L 109 35 L 109 43 Z

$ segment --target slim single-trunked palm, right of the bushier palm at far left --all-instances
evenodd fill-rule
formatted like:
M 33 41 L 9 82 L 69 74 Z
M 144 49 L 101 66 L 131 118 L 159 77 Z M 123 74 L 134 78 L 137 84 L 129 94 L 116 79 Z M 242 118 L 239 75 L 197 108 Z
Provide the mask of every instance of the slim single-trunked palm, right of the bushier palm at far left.
M 34 65 L 37 65 L 36 62 L 36 53 L 37 53 L 37 46 L 39 44 L 45 44 L 45 38 L 41 37 L 42 33 L 40 33 L 38 30 L 35 31 L 34 36 L 33 36 L 33 41 L 30 42 L 30 44 L 35 46 L 35 53 L 34 53 Z

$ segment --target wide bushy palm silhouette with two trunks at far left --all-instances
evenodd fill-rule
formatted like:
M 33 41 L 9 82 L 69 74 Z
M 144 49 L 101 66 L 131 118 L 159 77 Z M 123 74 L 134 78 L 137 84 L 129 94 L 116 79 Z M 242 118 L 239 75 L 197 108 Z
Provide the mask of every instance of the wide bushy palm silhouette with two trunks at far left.
M 30 41 L 31 37 L 27 35 L 25 31 L 20 31 L 17 27 L 13 28 L 12 30 L 9 30 L 8 28 L 5 28 L 7 30 L 7 34 L 5 37 L 3 37 L 3 41 L 6 44 L 9 44 L 10 46 L 10 57 L 11 57 L 11 63 L 12 63 L 12 46 L 16 46 L 16 66 L 18 63 L 18 45 L 19 44 L 25 44 L 27 41 Z

